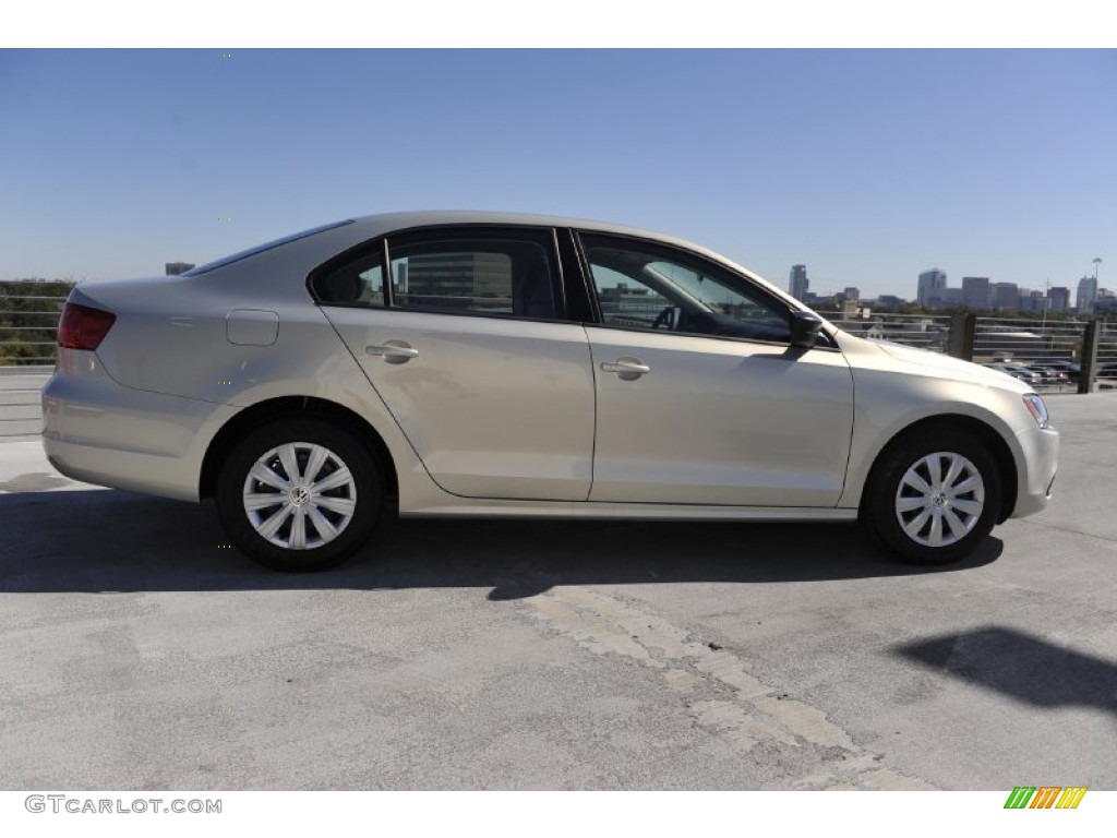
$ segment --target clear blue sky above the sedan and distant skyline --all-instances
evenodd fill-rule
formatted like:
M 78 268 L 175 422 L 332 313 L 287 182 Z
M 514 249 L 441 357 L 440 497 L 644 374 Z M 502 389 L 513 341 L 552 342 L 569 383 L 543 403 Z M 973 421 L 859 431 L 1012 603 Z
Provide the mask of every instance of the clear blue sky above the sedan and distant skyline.
M 671 232 L 782 287 L 1073 288 L 1094 257 L 1117 287 L 1117 50 L 9 49 L 0 113 L 3 279 L 477 208 Z

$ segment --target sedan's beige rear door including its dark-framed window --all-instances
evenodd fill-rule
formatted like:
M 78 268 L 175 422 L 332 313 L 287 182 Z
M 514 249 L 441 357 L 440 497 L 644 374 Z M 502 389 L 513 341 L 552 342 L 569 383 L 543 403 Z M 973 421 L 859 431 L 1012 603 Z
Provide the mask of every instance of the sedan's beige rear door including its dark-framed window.
M 585 501 L 593 370 L 561 270 L 553 230 L 440 227 L 370 242 L 312 286 L 443 489 Z

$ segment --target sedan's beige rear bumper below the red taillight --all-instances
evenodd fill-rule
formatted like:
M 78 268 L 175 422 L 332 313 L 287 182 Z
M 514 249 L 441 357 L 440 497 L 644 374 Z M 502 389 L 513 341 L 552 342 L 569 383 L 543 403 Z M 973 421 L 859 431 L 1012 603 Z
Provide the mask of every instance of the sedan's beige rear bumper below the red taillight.
M 60 350 L 42 390 L 42 447 L 76 480 L 197 501 L 207 427 L 236 408 L 116 383 L 92 352 Z

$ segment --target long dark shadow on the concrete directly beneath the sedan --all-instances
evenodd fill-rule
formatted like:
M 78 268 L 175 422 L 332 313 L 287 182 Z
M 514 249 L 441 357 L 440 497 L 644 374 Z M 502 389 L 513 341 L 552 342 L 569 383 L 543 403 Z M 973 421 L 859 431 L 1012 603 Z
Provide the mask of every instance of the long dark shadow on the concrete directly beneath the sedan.
M 389 520 L 341 568 L 277 573 L 225 537 L 212 503 L 111 489 L 0 494 L 0 592 L 489 588 L 491 600 L 555 585 L 794 582 L 965 571 L 882 555 L 855 524 Z

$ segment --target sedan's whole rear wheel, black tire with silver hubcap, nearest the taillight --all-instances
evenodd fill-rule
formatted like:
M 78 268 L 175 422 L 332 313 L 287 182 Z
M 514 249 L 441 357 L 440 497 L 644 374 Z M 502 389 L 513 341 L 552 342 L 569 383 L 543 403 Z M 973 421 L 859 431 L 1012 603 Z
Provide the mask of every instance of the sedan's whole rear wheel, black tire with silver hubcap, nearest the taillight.
M 233 544 L 267 568 L 295 572 L 335 566 L 360 550 L 383 498 L 373 454 L 344 428 L 303 418 L 248 434 L 217 485 L 218 514 Z

